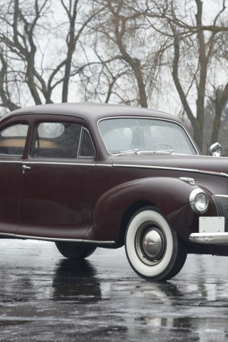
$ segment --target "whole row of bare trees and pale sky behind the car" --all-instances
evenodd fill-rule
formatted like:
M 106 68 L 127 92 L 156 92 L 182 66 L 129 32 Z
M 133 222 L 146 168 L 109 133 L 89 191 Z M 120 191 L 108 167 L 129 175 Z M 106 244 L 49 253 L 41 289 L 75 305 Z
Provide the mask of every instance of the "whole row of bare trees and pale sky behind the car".
M 170 108 L 205 150 L 228 130 L 226 3 L 0 0 L 1 113 L 76 100 Z

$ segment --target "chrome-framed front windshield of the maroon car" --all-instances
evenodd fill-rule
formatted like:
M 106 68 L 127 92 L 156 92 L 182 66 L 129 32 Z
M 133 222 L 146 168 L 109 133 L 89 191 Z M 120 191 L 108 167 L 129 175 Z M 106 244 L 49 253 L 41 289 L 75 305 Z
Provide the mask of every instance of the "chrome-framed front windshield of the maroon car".
M 197 155 L 181 125 L 150 118 L 110 118 L 98 123 L 100 135 L 110 153 L 163 151 Z

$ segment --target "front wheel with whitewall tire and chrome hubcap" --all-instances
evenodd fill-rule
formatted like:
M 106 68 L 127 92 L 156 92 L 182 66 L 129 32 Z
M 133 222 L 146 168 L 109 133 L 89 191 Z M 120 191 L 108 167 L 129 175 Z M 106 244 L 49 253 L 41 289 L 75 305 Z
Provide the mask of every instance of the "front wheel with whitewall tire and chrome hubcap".
M 135 213 L 125 234 L 130 266 L 143 279 L 167 280 L 185 264 L 187 248 L 165 217 L 153 207 Z

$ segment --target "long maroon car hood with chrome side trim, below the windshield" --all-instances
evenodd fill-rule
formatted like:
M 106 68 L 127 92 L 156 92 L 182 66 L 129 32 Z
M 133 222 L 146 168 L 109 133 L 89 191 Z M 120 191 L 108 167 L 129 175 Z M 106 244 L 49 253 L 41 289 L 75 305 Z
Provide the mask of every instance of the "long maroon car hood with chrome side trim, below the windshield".
M 171 155 L 166 153 L 128 153 L 116 155 L 113 166 L 152 167 L 189 170 L 228 177 L 228 158 L 204 155 Z

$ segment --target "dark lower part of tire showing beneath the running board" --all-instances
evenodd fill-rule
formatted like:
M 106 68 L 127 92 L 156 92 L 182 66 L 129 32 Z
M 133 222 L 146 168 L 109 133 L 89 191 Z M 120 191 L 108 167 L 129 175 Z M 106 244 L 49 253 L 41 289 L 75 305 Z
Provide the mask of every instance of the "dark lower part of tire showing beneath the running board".
M 56 242 L 56 247 L 63 257 L 73 260 L 85 259 L 93 254 L 96 249 L 96 247 L 83 246 L 76 242 Z

